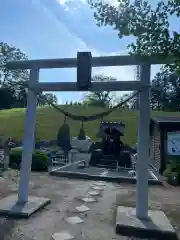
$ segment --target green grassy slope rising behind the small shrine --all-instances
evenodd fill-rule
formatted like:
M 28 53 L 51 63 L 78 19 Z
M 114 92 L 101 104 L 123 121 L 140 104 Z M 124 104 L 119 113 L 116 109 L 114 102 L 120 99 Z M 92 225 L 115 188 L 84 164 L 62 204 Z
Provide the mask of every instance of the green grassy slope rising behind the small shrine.
M 68 111 L 77 115 L 90 115 L 103 111 L 104 109 L 90 107 L 67 107 Z M 178 116 L 180 113 L 152 112 L 152 116 Z M 137 139 L 137 112 L 116 110 L 105 120 L 120 121 L 124 120 L 126 124 L 124 142 L 134 144 Z M 12 136 L 15 139 L 21 139 L 24 131 L 24 109 L 12 109 L 0 111 L 0 135 Z M 57 110 L 52 108 L 41 108 L 37 110 L 37 138 L 56 139 L 57 131 L 62 125 L 64 117 Z M 71 129 L 71 135 L 76 136 L 79 132 L 81 123 L 68 119 Z M 92 121 L 84 124 L 86 135 L 93 140 L 96 139 L 96 133 L 99 129 L 99 121 Z

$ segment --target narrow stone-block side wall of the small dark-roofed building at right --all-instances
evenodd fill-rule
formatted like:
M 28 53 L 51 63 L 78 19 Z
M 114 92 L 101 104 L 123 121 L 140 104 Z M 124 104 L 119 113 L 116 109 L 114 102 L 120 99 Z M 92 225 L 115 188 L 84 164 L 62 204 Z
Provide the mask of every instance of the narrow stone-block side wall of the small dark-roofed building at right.
M 151 135 L 151 151 L 150 151 L 150 164 L 152 164 L 159 172 L 161 164 L 161 153 L 160 153 L 160 130 L 158 125 L 154 125 Z

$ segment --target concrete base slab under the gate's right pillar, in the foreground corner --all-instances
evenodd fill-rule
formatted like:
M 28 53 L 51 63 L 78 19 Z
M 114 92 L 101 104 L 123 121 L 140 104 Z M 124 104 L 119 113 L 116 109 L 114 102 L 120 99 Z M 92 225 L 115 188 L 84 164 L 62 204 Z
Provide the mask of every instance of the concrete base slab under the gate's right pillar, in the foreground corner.
M 153 239 L 177 239 L 176 232 L 162 211 L 149 210 L 148 221 L 136 217 L 136 209 L 119 206 L 116 211 L 116 233 L 123 236 Z

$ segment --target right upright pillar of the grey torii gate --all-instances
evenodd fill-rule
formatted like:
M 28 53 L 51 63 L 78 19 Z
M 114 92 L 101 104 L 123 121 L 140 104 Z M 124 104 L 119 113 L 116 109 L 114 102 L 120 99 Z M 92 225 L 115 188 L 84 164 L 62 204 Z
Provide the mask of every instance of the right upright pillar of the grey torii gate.
M 150 84 L 151 66 L 141 65 L 140 82 Z M 138 161 L 136 185 L 136 215 L 140 219 L 148 219 L 148 161 L 149 161 L 149 122 L 150 103 L 149 88 L 144 88 L 139 97 L 138 121 Z

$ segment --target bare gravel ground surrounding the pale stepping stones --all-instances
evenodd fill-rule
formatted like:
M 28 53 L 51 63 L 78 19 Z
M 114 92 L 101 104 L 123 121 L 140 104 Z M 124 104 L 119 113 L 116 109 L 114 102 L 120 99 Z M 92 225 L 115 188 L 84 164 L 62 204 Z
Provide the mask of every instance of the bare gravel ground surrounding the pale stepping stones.
M 0 178 L 0 198 L 17 192 L 18 173 L 9 171 Z M 67 230 L 78 240 L 132 239 L 115 234 L 117 205 L 135 205 L 135 186 L 106 183 L 95 203 L 88 203 L 86 214 L 77 213 L 81 197 L 87 195 L 93 181 L 63 179 L 47 173 L 32 173 L 30 195 L 48 197 L 52 203 L 28 220 L 0 218 L 0 240 L 50 240 L 52 234 Z M 149 207 L 162 209 L 180 236 L 180 188 L 151 187 Z M 70 225 L 66 217 L 79 216 L 83 223 Z M 135 239 L 135 238 L 133 238 Z

